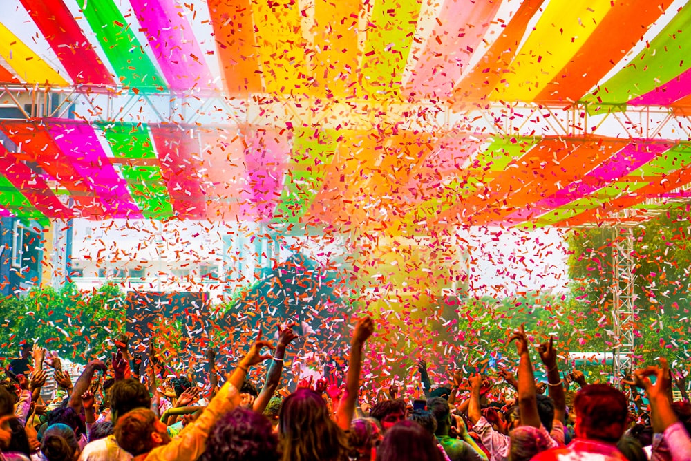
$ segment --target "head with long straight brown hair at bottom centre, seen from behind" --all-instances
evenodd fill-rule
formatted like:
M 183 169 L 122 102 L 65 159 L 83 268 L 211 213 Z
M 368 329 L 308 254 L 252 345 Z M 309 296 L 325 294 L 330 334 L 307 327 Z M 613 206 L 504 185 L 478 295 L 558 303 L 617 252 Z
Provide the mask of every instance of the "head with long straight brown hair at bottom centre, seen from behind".
M 340 460 L 348 455 L 345 433 L 331 419 L 319 393 L 301 388 L 286 397 L 278 413 L 282 460 Z

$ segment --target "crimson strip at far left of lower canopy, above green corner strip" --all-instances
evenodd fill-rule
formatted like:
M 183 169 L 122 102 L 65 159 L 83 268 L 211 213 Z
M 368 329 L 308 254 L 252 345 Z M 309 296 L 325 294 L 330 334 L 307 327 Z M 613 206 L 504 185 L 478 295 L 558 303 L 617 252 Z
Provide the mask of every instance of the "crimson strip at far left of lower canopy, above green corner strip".
M 46 181 L 1 146 L 0 171 L 30 201 L 31 205 L 48 218 L 73 218 L 72 211 L 62 205 Z

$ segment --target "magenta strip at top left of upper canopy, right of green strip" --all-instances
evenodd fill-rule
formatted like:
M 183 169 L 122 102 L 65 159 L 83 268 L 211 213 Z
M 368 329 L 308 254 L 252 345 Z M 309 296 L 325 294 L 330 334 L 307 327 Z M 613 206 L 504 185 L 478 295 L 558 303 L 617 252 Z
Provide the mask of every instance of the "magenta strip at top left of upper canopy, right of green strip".
M 173 91 L 216 88 L 192 26 L 173 0 L 130 0 L 130 3 Z

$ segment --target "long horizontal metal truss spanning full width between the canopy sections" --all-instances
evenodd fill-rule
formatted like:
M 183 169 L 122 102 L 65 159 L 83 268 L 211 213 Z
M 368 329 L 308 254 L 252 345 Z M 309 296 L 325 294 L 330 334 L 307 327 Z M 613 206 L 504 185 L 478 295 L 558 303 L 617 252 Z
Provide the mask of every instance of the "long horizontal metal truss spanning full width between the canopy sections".
M 219 91 L 133 93 L 86 87 L 2 86 L 0 105 L 16 106 L 25 118 L 74 117 L 90 122 L 173 123 L 208 129 L 240 124 L 370 129 L 396 126 L 434 133 L 490 136 L 564 136 L 691 140 L 691 108 L 545 105 L 498 102 L 448 104 L 444 100 L 404 102 L 280 97 L 226 97 Z M 28 109 L 28 110 L 27 110 Z

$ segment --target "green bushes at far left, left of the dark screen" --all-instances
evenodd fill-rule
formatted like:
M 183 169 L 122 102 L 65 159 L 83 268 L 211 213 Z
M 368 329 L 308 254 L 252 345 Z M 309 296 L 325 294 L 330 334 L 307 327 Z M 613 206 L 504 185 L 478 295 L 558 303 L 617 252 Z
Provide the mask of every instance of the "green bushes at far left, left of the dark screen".
M 33 288 L 0 300 L 0 344 L 17 355 L 20 341 L 57 350 L 62 357 L 87 361 L 101 355 L 106 340 L 124 332 L 124 294 L 117 285 L 80 292 L 73 283 L 60 290 Z

